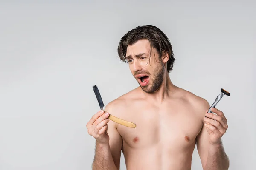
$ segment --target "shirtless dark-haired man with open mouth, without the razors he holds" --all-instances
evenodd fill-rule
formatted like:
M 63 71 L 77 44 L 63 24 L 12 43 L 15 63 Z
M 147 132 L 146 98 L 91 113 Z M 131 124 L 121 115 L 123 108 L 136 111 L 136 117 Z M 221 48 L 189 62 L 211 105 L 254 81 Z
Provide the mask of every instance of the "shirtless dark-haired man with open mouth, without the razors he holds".
M 121 151 L 127 170 L 190 170 L 195 144 L 204 170 L 227 170 L 221 143 L 227 119 L 216 108 L 207 114 L 205 99 L 172 83 L 175 58 L 166 35 L 155 26 L 137 27 L 122 37 L 118 53 L 140 86 L 87 123 L 96 139 L 93 170 L 119 170 Z M 109 121 L 109 113 L 137 127 Z

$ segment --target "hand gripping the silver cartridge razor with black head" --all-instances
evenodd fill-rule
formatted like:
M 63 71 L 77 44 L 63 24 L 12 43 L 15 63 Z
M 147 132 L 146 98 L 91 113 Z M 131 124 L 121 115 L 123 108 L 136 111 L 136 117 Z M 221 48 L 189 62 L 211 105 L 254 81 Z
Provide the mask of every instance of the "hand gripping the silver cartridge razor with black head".
M 224 116 L 223 112 L 212 108 L 211 111 L 213 113 L 216 113 L 217 115 L 213 113 L 207 113 L 205 114 L 204 118 L 204 126 L 207 129 L 207 132 L 209 133 L 209 142 L 212 145 L 215 144 L 221 144 L 221 137 L 226 133 L 227 131 L 227 119 Z

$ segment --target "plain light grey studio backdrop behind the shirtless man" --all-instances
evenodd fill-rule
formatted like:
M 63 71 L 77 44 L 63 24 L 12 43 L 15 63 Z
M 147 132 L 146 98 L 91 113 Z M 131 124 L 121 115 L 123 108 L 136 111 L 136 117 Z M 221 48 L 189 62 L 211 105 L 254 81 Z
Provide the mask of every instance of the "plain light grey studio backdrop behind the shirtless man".
M 172 82 L 229 121 L 230 170 L 255 167 L 255 1 L 44 1 L 0 3 L 0 170 L 89 170 L 87 121 L 137 87 L 117 58 L 120 38 L 152 24 L 172 42 Z M 166 134 L 168 135 L 168 134 Z M 192 170 L 201 170 L 195 149 Z M 125 170 L 122 156 L 121 170 Z

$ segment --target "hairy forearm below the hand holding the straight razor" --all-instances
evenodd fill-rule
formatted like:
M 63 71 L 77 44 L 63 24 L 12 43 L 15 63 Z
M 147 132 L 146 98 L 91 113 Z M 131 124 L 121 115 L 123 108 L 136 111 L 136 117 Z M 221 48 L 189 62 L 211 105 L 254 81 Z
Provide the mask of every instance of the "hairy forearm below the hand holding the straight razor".
M 96 142 L 93 170 L 118 170 L 113 161 L 109 144 Z

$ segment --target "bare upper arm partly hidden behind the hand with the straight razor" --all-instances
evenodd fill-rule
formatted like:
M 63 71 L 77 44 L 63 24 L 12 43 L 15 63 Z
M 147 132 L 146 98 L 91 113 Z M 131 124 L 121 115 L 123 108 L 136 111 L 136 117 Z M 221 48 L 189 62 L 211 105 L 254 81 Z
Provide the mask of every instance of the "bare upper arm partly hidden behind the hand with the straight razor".
M 105 112 L 113 113 L 114 105 L 113 103 L 109 103 L 105 107 Z M 109 135 L 109 145 L 111 149 L 111 154 L 113 157 L 113 161 L 119 170 L 120 168 L 120 157 L 121 157 L 121 150 L 122 150 L 122 136 L 118 133 L 116 129 L 116 122 L 110 120 L 108 122 L 108 135 Z

